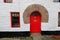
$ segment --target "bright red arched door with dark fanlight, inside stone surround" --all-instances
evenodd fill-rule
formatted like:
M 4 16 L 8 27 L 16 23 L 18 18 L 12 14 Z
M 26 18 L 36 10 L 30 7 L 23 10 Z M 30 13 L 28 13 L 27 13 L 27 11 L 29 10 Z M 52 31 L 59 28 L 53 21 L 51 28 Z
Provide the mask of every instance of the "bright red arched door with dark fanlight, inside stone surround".
M 38 11 L 34 11 L 30 15 L 30 32 L 41 33 L 41 15 Z

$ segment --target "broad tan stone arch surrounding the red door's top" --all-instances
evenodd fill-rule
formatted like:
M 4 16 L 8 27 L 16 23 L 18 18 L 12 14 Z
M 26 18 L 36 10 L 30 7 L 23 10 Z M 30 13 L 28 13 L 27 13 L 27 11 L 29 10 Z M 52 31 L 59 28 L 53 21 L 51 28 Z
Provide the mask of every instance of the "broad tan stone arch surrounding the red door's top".
M 42 22 L 48 22 L 49 15 L 47 9 L 39 4 L 32 4 L 28 6 L 23 13 L 23 21 L 25 24 L 30 23 L 30 14 L 33 11 L 39 11 L 42 16 Z

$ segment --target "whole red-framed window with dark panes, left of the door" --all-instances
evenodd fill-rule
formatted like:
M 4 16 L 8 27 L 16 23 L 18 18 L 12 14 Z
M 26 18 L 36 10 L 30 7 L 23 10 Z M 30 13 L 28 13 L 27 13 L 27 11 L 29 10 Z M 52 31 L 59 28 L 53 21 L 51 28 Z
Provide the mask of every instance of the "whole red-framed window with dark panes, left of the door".
M 11 26 L 20 27 L 20 14 L 19 12 L 11 12 Z

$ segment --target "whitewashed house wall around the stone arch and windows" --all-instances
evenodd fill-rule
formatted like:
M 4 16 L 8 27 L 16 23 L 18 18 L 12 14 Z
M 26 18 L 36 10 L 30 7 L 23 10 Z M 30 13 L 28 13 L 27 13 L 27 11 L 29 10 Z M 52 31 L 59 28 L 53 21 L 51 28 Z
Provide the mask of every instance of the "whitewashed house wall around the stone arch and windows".
M 60 30 L 58 27 L 60 3 L 54 3 L 53 0 L 13 0 L 13 3 L 4 3 L 0 0 L 0 31 L 30 31 L 30 24 L 23 22 L 23 12 L 32 4 L 40 4 L 48 10 L 49 22 L 41 24 L 43 31 Z M 11 28 L 10 12 L 20 12 L 20 28 Z

